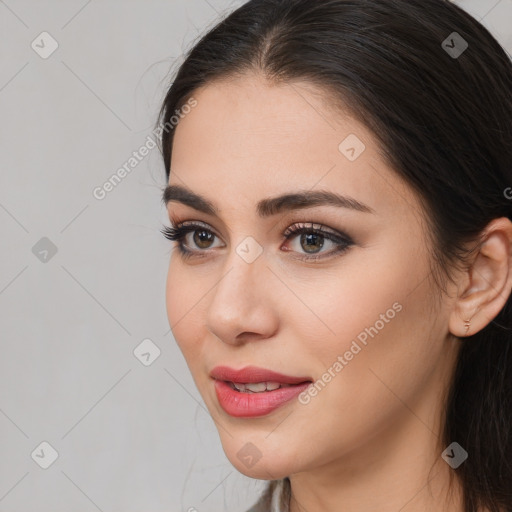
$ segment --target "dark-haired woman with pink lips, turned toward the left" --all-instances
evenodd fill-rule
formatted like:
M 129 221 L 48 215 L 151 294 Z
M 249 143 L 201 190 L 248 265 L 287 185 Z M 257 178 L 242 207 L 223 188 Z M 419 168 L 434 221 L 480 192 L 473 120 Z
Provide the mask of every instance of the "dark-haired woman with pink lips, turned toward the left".
M 443 0 L 251 0 L 181 64 L 167 311 L 252 512 L 512 510 L 511 90 Z

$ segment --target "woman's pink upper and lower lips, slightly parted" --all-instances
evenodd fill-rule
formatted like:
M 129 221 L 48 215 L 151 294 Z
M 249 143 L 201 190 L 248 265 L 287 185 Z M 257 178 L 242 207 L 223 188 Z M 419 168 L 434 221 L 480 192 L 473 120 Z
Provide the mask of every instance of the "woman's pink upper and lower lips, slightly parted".
M 283 375 L 256 366 L 247 366 L 240 370 L 234 370 L 227 366 L 216 366 L 210 376 L 214 379 L 215 393 L 220 406 L 227 414 L 237 418 L 269 414 L 297 397 L 312 383 L 312 379 L 309 377 Z M 261 393 L 244 393 L 233 389 L 229 384 L 229 382 L 269 381 L 290 384 L 290 386 Z

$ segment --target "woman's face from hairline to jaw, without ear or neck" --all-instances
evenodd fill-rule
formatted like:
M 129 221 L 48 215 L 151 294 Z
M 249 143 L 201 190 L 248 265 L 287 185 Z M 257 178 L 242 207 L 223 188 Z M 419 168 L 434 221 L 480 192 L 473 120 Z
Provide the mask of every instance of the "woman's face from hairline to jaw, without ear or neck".
M 271 479 L 434 453 L 456 345 L 415 194 L 311 85 L 247 75 L 194 98 L 169 184 L 213 208 L 167 203 L 174 226 L 200 224 L 182 239 L 189 256 L 172 253 L 167 312 L 227 457 Z M 308 202 L 321 191 L 352 202 Z M 288 194 L 305 195 L 269 207 Z M 293 227 L 305 233 L 286 238 Z M 237 391 L 211 376 L 217 366 L 316 384 Z

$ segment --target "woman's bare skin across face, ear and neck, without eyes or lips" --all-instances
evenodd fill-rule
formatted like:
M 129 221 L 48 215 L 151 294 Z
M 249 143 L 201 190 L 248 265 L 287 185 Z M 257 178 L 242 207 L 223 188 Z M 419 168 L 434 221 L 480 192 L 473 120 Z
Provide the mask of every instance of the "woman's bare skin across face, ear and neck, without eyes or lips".
M 196 251 L 189 259 L 173 250 L 166 301 L 226 456 L 253 478 L 289 476 L 291 512 L 462 512 L 457 485 L 447 492 L 453 470 L 440 457 L 442 400 L 464 319 L 473 334 L 510 294 L 510 222 L 493 221 L 473 272 L 456 274 L 439 298 L 425 213 L 363 124 L 335 113 L 311 84 L 271 85 L 256 74 L 212 82 L 194 97 L 198 105 L 176 128 L 169 184 L 190 188 L 220 213 L 168 203 L 174 225 L 200 221 L 216 237 L 198 246 L 187 235 Z M 366 145 L 353 162 L 338 149 L 348 134 Z M 259 200 L 298 189 L 336 191 L 375 213 L 323 205 L 258 216 Z M 300 222 L 354 243 L 332 254 L 335 244 L 325 239 L 323 259 L 301 261 L 310 253 L 300 234 L 283 237 Z M 236 252 L 247 236 L 263 248 L 252 263 Z M 400 312 L 308 404 L 294 400 L 251 419 L 220 407 L 214 366 L 319 380 L 394 303 Z M 247 442 L 262 454 L 250 468 L 237 457 Z

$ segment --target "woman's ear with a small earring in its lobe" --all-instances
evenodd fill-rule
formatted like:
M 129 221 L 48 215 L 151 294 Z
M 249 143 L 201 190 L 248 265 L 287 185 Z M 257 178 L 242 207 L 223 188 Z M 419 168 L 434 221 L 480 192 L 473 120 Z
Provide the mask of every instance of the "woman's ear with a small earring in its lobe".
M 483 230 L 480 246 L 461 280 L 450 314 L 449 329 L 457 337 L 483 329 L 501 311 L 512 288 L 512 222 L 492 220 Z M 466 320 L 470 320 L 466 330 Z

